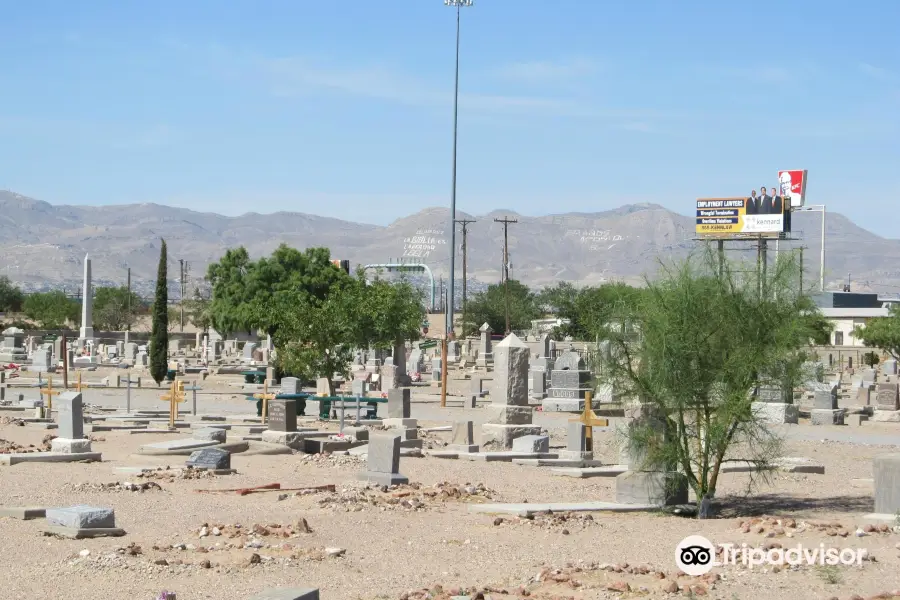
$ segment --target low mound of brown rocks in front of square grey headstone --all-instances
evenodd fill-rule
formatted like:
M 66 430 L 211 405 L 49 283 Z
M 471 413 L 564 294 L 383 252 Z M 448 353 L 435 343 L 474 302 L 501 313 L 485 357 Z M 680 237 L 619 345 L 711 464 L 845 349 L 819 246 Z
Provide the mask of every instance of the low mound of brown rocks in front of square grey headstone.
M 494 497 L 496 492 L 484 484 L 456 485 L 441 482 L 432 487 L 419 483 L 392 486 L 350 484 L 335 493 L 328 494 L 318 502 L 321 508 L 335 511 L 360 512 L 367 508 L 380 510 L 424 510 L 431 505 L 444 502 L 484 502 Z

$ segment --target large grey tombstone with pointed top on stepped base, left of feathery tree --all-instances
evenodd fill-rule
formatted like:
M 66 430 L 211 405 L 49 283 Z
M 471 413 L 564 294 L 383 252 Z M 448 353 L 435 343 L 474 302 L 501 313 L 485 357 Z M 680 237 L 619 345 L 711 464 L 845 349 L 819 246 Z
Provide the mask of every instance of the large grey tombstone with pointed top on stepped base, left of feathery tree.
M 510 334 L 494 348 L 494 386 L 488 422 L 481 426 L 481 445 L 486 448 L 512 448 L 512 441 L 523 435 L 540 435 L 532 425 L 528 405 L 528 346 Z

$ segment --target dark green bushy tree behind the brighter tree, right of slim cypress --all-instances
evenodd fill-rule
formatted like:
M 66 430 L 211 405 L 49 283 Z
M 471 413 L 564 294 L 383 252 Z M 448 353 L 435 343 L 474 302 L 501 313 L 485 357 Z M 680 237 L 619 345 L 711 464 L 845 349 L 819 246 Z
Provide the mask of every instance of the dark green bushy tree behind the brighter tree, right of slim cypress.
M 351 277 L 331 263 L 327 248 L 299 251 L 281 244 L 270 257 L 251 261 L 243 247 L 226 251 L 209 266 L 212 283 L 209 314 L 220 333 L 262 329 L 274 335 L 280 319 L 262 310 L 281 296 L 297 293 L 322 300 L 338 283 Z

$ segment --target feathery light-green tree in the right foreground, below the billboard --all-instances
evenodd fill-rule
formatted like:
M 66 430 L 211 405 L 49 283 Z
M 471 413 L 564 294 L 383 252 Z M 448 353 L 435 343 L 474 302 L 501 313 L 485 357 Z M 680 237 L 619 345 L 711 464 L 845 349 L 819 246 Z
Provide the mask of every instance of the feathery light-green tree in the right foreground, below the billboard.
M 620 305 L 615 320 L 634 327 L 600 332 L 610 341 L 603 378 L 655 415 L 627 434 L 642 468 L 678 470 L 710 500 L 729 460 L 750 460 L 765 476 L 781 440 L 751 410 L 751 392 L 798 370 L 825 323 L 794 288 L 797 272 L 792 259 L 778 261 L 760 293 L 752 270 L 720 270 L 709 252 Z

